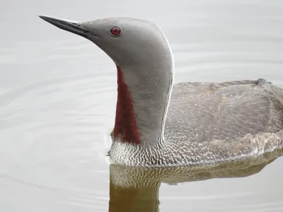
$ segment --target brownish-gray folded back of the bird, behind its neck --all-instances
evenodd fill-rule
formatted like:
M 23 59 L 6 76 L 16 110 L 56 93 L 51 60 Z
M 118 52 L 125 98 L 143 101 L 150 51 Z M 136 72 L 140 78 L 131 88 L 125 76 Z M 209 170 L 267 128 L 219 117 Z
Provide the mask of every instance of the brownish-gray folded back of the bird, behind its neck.
M 283 129 L 283 89 L 264 79 L 174 86 L 165 137 L 176 142 L 231 142 Z M 263 141 L 262 141 L 263 142 Z

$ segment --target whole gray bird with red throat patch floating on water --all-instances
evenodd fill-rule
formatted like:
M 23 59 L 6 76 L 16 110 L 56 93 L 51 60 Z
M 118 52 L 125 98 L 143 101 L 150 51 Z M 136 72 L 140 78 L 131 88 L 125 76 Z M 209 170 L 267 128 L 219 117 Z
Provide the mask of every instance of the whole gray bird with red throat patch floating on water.
M 283 89 L 264 78 L 174 85 L 173 52 L 155 23 L 129 17 L 39 17 L 85 37 L 114 62 L 112 163 L 209 165 L 283 148 Z

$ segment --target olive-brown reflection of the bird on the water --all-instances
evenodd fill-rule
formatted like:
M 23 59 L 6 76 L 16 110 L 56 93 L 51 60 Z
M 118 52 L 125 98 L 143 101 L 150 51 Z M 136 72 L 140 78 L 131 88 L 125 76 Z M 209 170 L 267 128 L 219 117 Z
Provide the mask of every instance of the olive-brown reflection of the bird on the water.
M 161 183 L 177 184 L 212 178 L 248 177 L 283 154 L 282 150 L 248 160 L 206 167 L 126 167 L 110 165 L 110 212 L 158 211 Z

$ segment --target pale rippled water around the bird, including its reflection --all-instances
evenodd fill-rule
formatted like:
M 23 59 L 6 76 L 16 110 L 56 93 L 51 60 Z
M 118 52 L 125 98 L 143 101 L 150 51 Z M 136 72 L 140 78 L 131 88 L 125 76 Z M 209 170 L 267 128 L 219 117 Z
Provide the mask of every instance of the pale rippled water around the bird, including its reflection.
M 1 1 L 0 211 L 154 211 L 156 196 L 160 211 L 282 211 L 277 155 L 181 170 L 178 180 L 176 170 L 109 167 L 115 65 L 37 14 L 154 21 L 171 42 L 175 83 L 266 78 L 283 87 L 283 1 Z M 156 194 L 161 181 L 169 184 Z

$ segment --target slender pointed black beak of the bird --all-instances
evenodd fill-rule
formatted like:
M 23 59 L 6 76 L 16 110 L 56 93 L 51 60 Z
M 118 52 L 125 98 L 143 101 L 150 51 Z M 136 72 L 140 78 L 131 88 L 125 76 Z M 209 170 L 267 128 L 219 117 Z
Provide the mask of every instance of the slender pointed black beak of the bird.
M 71 20 L 64 20 L 59 18 L 52 18 L 50 16 L 39 16 L 39 17 L 51 23 L 52 25 L 57 26 L 57 28 L 60 28 L 62 30 L 67 30 L 71 33 L 75 33 L 76 35 L 81 35 L 86 38 L 92 35 L 88 30 L 83 28 L 79 22 L 74 22 Z

